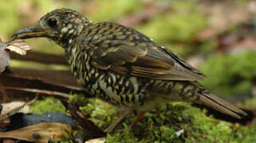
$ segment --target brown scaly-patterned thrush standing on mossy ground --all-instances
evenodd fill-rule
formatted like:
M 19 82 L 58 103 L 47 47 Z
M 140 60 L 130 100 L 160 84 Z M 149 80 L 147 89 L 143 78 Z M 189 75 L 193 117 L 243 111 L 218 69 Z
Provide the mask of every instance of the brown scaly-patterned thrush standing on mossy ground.
M 246 116 L 199 83 L 206 75 L 136 29 L 108 21 L 93 23 L 75 10 L 61 8 L 13 35 L 13 39 L 35 37 L 64 48 L 77 83 L 122 110 L 105 129 L 108 133 L 133 110 L 140 112 L 138 121 L 146 111 L 167 102 L 199 103 L 234 118 Z

